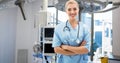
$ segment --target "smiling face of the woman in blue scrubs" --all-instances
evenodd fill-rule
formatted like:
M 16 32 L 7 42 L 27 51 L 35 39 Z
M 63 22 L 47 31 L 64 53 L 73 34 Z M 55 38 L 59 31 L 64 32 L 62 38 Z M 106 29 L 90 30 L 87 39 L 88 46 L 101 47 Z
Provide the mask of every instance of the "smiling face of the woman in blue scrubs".
M 76 16 L 78 15 L 79 8 L 77 4 L 68 4 L 66 7 L 66 13 L 68 14 L 69 19 L 76 19 Z

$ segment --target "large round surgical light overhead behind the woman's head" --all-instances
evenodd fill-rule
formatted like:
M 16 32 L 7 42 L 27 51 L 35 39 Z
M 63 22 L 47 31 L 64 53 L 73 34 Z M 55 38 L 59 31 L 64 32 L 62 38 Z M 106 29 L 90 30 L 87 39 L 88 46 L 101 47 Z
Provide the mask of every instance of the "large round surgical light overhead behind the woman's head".
M 55 7 L 58 10 L 64 11 L 64 5 L 67 0 L 57 0 L 58 3 L 55 4 Z M 98 13 L 102 10 L 102 12 L 106 12 L 115 8 L 119 7 L 119 2 L 118 3 L 112 3 L 112 4 L 117 4 L 117 7 L 113 7 L 110 9 L 107 9 L 103 11 L 103 9 L 106 8 L 108 4 L 110 4 L 109 0 L 76 0 L 78 3 L 80 3 L 80 6 L 82 6 L 84 9 L 82 12 L 84 13 Z

